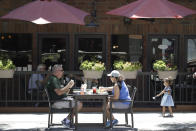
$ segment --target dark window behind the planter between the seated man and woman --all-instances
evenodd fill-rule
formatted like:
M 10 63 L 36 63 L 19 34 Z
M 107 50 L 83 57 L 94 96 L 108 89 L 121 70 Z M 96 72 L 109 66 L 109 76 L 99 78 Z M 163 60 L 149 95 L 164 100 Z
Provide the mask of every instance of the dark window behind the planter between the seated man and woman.
M 80 64 L 84 60 L 98 60 L 105 63 L 104 43 L 104 35 L 76 35 L 76 69 L 79 70 Z

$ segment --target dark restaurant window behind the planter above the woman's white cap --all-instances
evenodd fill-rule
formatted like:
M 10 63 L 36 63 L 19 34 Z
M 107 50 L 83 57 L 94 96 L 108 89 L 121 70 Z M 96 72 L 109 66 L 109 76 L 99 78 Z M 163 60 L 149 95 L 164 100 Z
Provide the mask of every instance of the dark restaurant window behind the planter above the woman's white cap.
M 116 60 L 142 62 L 141 35 L 112 35 L 111 43 L 112 67 Z

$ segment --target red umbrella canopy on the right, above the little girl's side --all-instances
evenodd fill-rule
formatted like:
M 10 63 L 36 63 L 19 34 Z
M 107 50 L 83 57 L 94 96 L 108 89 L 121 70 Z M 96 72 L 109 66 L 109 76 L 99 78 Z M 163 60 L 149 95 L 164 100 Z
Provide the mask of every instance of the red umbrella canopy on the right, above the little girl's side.
M 138 0 L 106 14 L 125 16 L 128 18 L 183 18 L 196 11 L 168 0 Z

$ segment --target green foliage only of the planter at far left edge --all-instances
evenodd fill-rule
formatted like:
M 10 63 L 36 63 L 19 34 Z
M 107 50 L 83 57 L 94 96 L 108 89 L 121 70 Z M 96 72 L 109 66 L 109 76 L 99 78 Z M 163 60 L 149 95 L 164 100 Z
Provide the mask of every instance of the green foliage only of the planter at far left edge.
M 0 59 L 0 70 L 15 69 L 15 65 L 10 59 Z

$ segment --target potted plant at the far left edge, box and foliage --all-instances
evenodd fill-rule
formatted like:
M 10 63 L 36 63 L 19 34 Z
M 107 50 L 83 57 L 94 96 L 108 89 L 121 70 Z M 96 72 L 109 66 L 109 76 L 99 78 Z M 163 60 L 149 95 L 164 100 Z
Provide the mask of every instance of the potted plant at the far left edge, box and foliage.
M 0 59 L 0 78 L 13 78 L 15 65 L 10 59 Z

